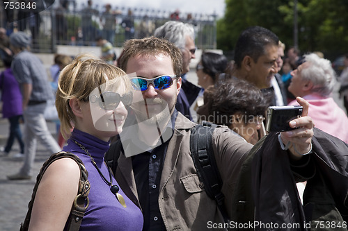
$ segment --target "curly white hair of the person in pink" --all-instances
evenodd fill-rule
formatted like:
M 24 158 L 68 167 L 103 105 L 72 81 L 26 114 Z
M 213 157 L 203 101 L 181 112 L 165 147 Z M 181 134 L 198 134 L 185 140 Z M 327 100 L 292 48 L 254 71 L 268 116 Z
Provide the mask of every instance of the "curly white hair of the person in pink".
M 312 92 L 329 96 L 336 84 L 336 74 L 330 60 L 320 58 L 315 53 L 304 55 L 304 60 L 309 65 L 301 70 L 302 78 L 313 82 Z

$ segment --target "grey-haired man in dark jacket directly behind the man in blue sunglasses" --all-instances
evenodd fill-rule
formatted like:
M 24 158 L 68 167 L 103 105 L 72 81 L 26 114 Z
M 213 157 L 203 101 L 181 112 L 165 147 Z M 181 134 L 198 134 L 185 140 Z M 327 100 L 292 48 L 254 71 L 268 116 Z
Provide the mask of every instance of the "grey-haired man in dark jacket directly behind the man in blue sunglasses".
M 193 120 L 190 107 L 201 90 L 200 87 L 193 85 L 186 79 L 186 74 L 190 70 L 191 59 L 196 58 L 193 26 L 183 22 L 169 21 L 157 28 L 154 36 L 166 38 L 182 51 L 182 89 L 177 96 L 175 108 L 185 117 Z

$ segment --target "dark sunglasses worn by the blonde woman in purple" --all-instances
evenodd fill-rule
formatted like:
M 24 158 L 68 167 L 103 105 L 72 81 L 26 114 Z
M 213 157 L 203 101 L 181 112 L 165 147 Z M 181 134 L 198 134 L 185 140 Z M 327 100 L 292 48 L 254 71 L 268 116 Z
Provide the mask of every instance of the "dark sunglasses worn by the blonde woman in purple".
M 133 101 L 133 92 L 128 92 L 123 96 L 120 96 L 120 94 L 116 92 L 103 92 L 100 96 L 95 94 L 90 96 L 90 103 L 96 103 L 97 101 L 100 108 L 104 110 L 115 110 L 121 101 L 125 106 L 131 105 Z

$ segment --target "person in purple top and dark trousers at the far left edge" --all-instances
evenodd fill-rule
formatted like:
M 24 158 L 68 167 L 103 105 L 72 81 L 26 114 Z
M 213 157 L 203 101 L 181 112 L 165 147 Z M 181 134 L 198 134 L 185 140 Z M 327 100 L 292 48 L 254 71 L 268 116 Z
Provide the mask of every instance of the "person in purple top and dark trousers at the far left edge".
M 6 69 L 0 74 L 0 89 L 1 101 L 3 102 L 2 113 L 3 118 L 8 118 L 10 121 L 10 134 L 8 136 L 6 146 L 3 148 L 3 153 L 8 155 L 12 149 L 15 139 L 18 140 L 20 153 L 13 157 L 23 157 L 24 142 L 22 140 L 22 131 L 19 127 L 19 121 L 22 120 L 22 94 L 19 89 L 19 84 L 13 76 L 11 70 L 12 57 L 3 60 Z M 2 147 L 1 147 L 2 148 Z

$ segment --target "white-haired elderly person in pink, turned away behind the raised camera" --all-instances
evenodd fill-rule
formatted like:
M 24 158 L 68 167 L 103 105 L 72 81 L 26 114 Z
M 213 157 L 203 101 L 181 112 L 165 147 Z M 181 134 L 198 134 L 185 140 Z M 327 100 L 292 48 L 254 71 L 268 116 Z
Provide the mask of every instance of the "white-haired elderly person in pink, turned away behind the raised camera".
M 291 72 L 289 91 L 308 101 L 308 116 L 315 127 L 348 143 L 348 117 L 331 97 L 336 83 L 331 62 L 315 53 L 304 55 L 304 61 Z M 289 105 L 297 103 L 292 101 Z

